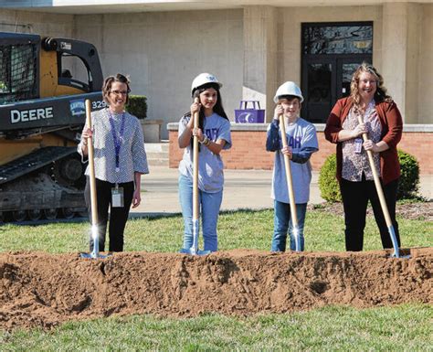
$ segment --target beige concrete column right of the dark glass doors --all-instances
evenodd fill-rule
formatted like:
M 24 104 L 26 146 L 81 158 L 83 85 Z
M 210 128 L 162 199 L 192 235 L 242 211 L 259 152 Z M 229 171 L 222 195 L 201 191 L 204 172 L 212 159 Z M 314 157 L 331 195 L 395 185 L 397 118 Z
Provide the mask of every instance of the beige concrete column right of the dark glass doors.
M 406 121 L 408 4 L 385 3 L 382 21 L 382 75 Z

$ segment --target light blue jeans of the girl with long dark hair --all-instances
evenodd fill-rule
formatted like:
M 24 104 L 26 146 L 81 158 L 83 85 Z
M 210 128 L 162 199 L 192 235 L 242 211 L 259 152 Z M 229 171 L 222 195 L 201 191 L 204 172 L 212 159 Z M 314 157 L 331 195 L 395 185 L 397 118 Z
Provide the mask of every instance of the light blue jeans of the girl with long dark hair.
M 184 249 L 193 246 L 193 180 L 179 176 L 179 200 L 184 216 Z M 206 193 L 198 190 L 198 206 L 201 208 L 202 233 L 205 251 L 218 250 L 216 223 L 219 208 L 223 200 L 223 191 Z

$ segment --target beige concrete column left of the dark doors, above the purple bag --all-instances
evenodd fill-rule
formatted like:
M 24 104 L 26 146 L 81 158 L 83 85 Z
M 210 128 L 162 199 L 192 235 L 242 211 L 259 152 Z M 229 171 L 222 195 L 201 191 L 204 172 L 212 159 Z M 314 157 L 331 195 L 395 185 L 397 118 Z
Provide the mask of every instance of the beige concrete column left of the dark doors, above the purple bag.
M 260 102 L 273 114 L 273 94 L 277 88 L 277 10 L 272 6 L 244 9 L 243 100 Z

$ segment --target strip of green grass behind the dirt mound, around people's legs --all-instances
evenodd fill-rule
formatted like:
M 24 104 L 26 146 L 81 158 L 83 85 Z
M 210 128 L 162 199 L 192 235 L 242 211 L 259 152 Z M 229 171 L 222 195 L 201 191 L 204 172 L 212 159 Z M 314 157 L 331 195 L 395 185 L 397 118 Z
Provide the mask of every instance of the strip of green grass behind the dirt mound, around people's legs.
M 433 223 L 398 219 L 402 247 L 432 245 Z M 179 251 L 183 236 L 182 216 L 130 219 L 125 229 L 125 251 Z M 273 211 L 223 212 L 218 221 L 219 250 L 239 248 L 269 251 Z M 344 251 L 343 218 L 309 210 L 305 220 L 305 251 Z M 39 226 L 5 224 L 0 227 L 0 251 L 89 251 L 88 222 Z M 108 240 L 108 239 L 107 239 Z M 380 250 L 382 244 L 373 217 L 367 217 L 364 251 Z

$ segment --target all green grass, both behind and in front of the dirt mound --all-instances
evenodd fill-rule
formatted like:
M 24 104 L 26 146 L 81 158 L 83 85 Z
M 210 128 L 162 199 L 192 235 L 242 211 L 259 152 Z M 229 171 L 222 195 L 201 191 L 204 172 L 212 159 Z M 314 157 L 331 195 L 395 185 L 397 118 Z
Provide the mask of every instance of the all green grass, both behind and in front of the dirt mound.
M 403 247 L 432 245 L 433 223 L 398 219 Z M 90 225 L 58 223 L 0 227 L 0 251 L 88 251 Z M 220 250 L 249 248 L 269 251 L 272 210 L 224 212 L 218 222 Z M 181 216 L 131 219 L 125 230 L 125 251 L 178 251 Z M 344 251 L 343 218 L 308 211 L 306 251 Z M 367 218 L 364 250 L 379 250 L 375 221 Z M 0 282 L 1 283 L 1 282 Z M 1 286 L 0 286 L 1 287 Z M 285 315 L 191 319 L 151 315 L 110 317 L 70 322 L 52 331 L 0 332 L 1 351 L 72 350 L 407 350 L 433 351 L 433 307 L 405 304 L 354 309 L 328 306 Z

